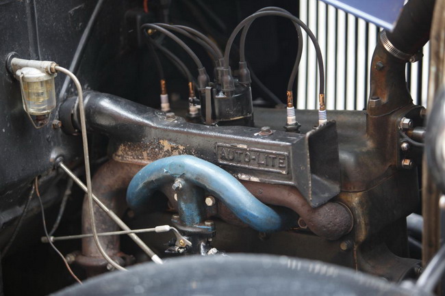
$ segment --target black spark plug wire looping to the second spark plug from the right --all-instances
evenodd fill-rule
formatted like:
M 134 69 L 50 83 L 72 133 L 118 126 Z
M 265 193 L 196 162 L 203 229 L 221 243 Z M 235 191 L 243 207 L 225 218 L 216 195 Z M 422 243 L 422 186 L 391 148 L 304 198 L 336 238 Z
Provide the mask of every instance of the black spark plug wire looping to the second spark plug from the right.
M 277 12 L 285 12 L 288 13 L 290 15 L 292 15 L 290 12 L 288 12 L 288 10 L 285 10 L 283 8 L 277 8 L 277 7 L 267 7 L 267 8 L 262 8 L 261 10 L 258 10 L 257 12 L 264 12 L 264 11 L 277 11 Z M 252 21 L 253 22 L 253 21 Z M 247 36 L 247 32 L 249 31 L 249 28 L 252 25 L 252 22 L 245 25 L 244 29 L 242 29 L 241 32 L 241 38 L 240 38 L 240 62 L 246 62 L 246 55 L 245 55 L 245 49 L 246 49 L 246 36 Z M 301 61 L 301 55 L 303 55 L 303 32 L 301 31 L 301 27 L 300 25 L 298 25 L 298 23 L 295 23 L 295 29 L 296 29 L 296 33 L 298 35 L 298 49 L 296 52 L 296 59 L 294 62 L 294 67 L 292 68 L 292 72 L 290 74 L 290 78 L 289 78 L 289 82 L 288 82 L 288 92 L 292 92 L 292 90 L 294 89 L 294 81 L 296 78 L 296 74 L 298 73 L 298 66 L 300 65 L 300 61 Z

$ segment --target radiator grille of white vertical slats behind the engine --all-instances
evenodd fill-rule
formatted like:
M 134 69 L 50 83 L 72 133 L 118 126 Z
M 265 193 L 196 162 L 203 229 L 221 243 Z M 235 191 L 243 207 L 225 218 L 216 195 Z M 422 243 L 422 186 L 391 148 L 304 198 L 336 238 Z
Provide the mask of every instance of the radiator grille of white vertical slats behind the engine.
M 369 69 L 379 27 L 318 0 L 300 0 L 301 21 L 320 43 L 326 70 L 327 109 L 361 110 L 369 95 Z M 314 47 L 304 34 L 296 85 L 298 109 L 318 107 L 318 70 Z M 407 87 L 414 103 L 426 106 L 429 44 L 424 57 L 407 64 Z

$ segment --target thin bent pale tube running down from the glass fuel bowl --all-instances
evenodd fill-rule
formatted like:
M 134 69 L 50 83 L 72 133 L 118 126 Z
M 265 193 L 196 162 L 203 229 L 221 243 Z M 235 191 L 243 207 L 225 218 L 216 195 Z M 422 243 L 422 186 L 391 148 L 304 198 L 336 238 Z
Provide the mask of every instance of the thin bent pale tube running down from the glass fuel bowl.
M 92 237 L 94 239 L 94 243 L 96 243 L 97 249 L 107 260 L 110 265 L 118 270 L 127 270 L 124 267 L 121 267 L 116 263 L 108 254 L 103 250 L 101 242 L 99 241 L 99 236 L 97 235 L 96 229 L 96 221 L 94 219 L 94 207 L 92 200 L 92 186 L 91 186 L 91 172 L 90 172 L 90 157 L 88 155 L 88 138 L 86 135 L 86 120 L 85 120 L 85 110 L 84 110 L 84 94 L 82 92 L 82 87 L 80 85 L 77 77 L 66 68 L 55 66 L 54 69 L 56 71 L 62 72 L 73 80 L 74 84 L 77 88 L 77 96 L 79 97 L 79 114 L 80 114 L 80 125 L 81 125 L 81 134 L 82 134 L 82 144 L 84 146 L 84 159 L 85 159 L 85 176 L 86 176 L 86 187 L 87 187 L 87 196 L 88 196 L 88 208 L 90 209 L 90 218 L 91 218 L 91 229 L 92 229 Z

